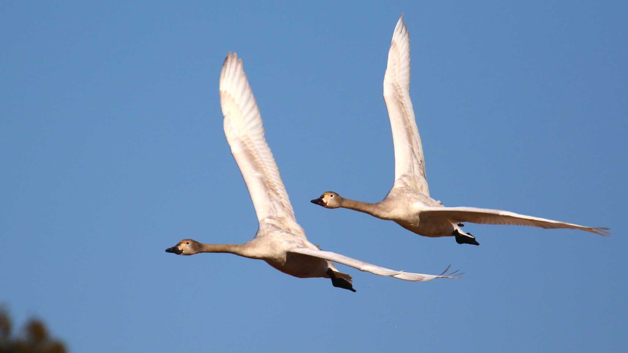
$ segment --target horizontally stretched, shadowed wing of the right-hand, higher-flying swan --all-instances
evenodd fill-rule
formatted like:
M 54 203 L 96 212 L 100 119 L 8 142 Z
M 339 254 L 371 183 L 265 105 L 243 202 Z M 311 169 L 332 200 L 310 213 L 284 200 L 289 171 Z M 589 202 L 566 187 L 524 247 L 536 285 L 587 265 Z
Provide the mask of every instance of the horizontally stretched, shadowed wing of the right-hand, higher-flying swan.
M 570 228 L 609 236 L 610 233 L 603 227 L 585 227 L 583 225 L 558 222 L 558 220 L 521 215 L 514 212 L 479 209 L 477 207 L 430 207 L 419 214 L 421 220 L 447 219 L 455 223 L 470 222 L 480 224 L 512 224 L 533 225 L 541 228 Z

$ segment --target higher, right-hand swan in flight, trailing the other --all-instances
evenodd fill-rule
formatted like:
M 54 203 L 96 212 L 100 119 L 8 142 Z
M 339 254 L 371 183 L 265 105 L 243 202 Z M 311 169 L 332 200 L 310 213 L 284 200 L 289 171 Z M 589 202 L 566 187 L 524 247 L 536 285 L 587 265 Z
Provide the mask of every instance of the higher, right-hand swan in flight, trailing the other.
M 608 236 L 608 228 L 531 217 L 514 212 L 479 209 L 475 207 L 443 207 L 430 197 L 425 176 L 423 146 L 416 128 L 410 85 L 410 40 L 403 14 L 394 29 L 384 74 L 384 100 L 393 130 L 394 184 L 384 200 L 375 204 L 342 198 L 338 193 L 325 192 L 312 203 L 328 209 L 344 207 L 393 220 L 405 229 L 426 237 L 455 236 L 458 244 L 479 243 L 470 233 L 460 229 L 462 222 L 482 224 L 534 225 L 543 228 L 571 228 Z

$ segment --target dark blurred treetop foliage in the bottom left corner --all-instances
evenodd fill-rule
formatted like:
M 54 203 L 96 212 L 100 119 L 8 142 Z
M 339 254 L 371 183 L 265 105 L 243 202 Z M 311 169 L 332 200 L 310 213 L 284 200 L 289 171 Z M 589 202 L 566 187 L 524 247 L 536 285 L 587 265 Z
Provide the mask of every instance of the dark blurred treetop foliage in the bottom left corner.
M 40 320 L 29 320 L 21 335 L 12 335 L 12 323 L 8 312 L 0 307 L 0 353 L 65 353 L 65 346 L 48 336 L 48 330 Z

